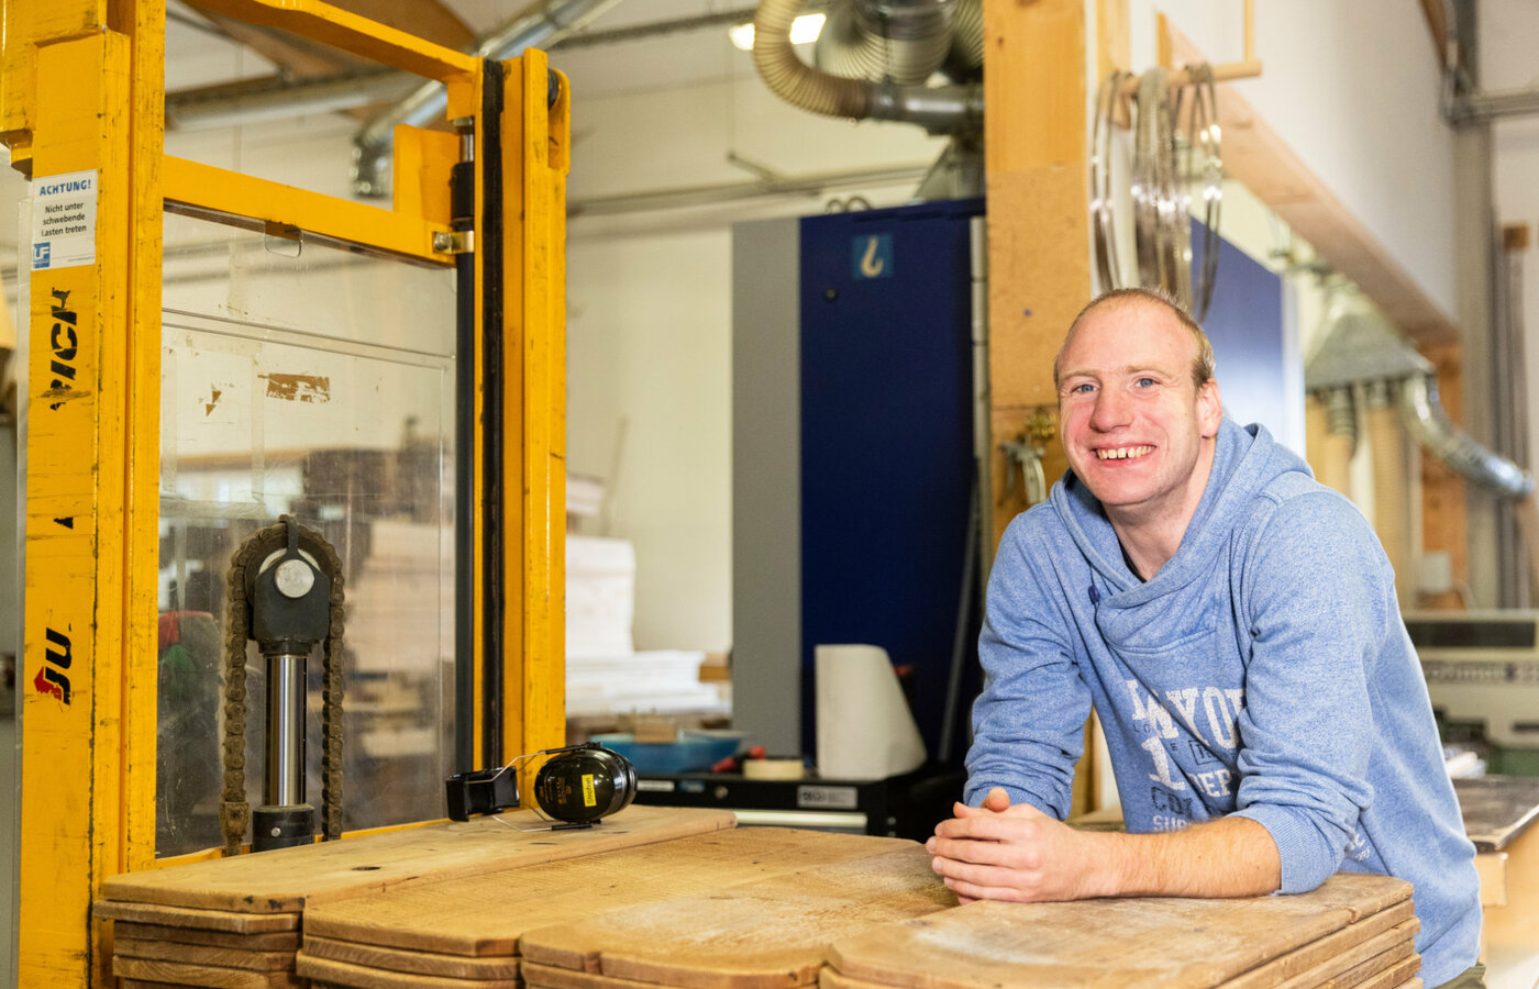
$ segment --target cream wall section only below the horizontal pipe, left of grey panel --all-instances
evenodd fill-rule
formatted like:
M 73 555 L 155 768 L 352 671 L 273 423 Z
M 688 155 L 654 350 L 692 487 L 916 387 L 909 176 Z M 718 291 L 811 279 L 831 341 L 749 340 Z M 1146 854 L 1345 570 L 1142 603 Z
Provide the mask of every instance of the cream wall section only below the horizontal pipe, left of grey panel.
M 574 238 L 569 469 L 614 486 L 637 548 L 637 648 L 731 643 L 731 340 L 720 229 Z M 619 449 L 617 449 L 619 448 Z M 619 471 L 614 471 L 619 452 Z

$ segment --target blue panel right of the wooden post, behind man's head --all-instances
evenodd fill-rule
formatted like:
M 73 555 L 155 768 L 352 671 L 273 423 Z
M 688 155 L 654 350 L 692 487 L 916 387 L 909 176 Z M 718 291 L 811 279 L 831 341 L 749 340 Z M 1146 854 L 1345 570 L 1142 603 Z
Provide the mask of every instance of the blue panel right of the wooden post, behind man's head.
M 1202 269 L 1202 225 L 1191 223 L 1191 271 Z M 1213 341 L 1224 411 L 1240 425 L 1260 423 L 1277 437 L 1290 431 L 1284 368 L 1290 360 L 1282 328 L 1282 278 L 1248 254 L 1219 240 L 1219 278 L 1202 320 Z

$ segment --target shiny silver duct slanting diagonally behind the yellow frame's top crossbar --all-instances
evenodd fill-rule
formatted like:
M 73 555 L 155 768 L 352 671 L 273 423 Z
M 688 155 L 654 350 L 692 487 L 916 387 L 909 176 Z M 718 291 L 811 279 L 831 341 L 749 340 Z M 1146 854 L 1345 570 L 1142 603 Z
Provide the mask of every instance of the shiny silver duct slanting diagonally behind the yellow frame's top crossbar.
M 619 0 L 548 0 L 503 23 L 474 49 L 479 58 L 514 58 L 526 48 L 549 48 L 573 31 L 593 23 Z M 449 95 L 443 83 L 426 82 L 385 112 L 369 120 L 352 138 L 352 191 L 382 198 L 389 195 L 389 158 L 396 125 L 428 126 L 443 120 Z

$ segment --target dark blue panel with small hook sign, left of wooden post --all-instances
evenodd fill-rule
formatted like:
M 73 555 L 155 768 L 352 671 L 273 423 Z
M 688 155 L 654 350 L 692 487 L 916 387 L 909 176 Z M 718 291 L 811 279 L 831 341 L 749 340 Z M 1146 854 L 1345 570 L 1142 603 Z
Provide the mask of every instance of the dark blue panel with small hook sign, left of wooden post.
M 911 668 L 936 752 L 971 504 L 968 220 L 982 212 L 959 200 L 802 220 L 806 752 L 813 649 L 836 643 L 877 644 Z M 970 631 L 970 654 L 974 641 Z

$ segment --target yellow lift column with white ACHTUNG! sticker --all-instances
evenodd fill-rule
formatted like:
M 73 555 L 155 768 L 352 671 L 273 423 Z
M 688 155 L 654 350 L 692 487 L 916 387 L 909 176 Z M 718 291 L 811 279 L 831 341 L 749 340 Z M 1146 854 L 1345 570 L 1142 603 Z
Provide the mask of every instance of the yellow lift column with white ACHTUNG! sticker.
M 28 285 L 26 986 L 108 984 L 91 898 L 154 857 L 165 9 L 111 14 L 6 5 L 0 131 L 55 235 Z

